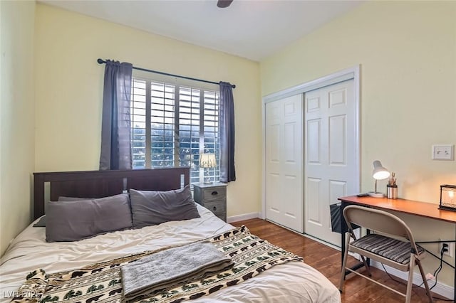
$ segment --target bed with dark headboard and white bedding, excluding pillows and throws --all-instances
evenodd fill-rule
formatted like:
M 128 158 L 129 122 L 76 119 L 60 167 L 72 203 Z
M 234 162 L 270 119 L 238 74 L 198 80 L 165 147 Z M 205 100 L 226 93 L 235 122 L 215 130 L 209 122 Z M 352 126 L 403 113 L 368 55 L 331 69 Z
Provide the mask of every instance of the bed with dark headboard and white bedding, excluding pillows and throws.
M 34 219 L 20 233 L 1 257 L 0 302 L 10 302 L 24 284 L 26 276 L 40 268 L 46 274 L 76 272 L 87 265 L 113 264 L 127 256 L 138 256 L 165 248 L 202 241 L 218 241 L 220 235 L 239 230 L 220 220 L 206 208 L 197 205 L 199 218 L 171 220 L 142 228 L 127 228 L 102 233 L 72 242 L 46 242 L 46 228 L 33 227 L 45 213 L 45 201 L 58 197 L 102 198 L 128 192 L 170 191 L 189 184 L 190 169 L 145 169 L 134 171 L 76 171 L 34 174 Z M 62 202 L 64 203 L 64 202 Z M 47 211 L 46 211 L 47 213 Z M 244 231 L 245 230 L 245 231 Z M 237 233 L 237 231 L 236 231 Z M 247 228 L 242 230 L 247 233 Z M 218 238 L 217 238 L 218 237 Z M 257 239 L 260 243 L 267 243 Z M 277 248 L 279 249 L 279 248 Z M 292 255 L 292 254 L 291 254 Z M 280 263 L 280 262 L 279 262 Z M 305 262 L 291 260 L 277 263 L 257 275 L 226 287 L 219 287 L 191 302 L 340 302 L 338 289 Z M 123 264 L 123 263 L 122 263 Z M 90 267 L 93 268 L 93 267 Z M 36 273 L 36 272 L 34 272 Z M 24 299 L 24 298 L 22 298 Z M 41 297 L 43 300 L 43 297 Z M 48 296 L 52 302 L 52 297 Z M 77 299 L 68 302 L 88 302 Z M 95 302 L 96 300 L 90 300 Z M 100 299 L 98 302 L 113 302 Z M 123 299 L 118 299 L 122 302 Z M 145 302 L 180 302 L 165 298 Z

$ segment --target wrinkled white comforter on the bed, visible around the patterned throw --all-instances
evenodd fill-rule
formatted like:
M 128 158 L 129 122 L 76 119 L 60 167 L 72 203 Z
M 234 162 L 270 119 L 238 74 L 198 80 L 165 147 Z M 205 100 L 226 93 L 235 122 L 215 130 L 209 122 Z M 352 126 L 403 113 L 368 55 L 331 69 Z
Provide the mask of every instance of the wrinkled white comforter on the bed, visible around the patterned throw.
M 191 243 L 234 228 L 198 205 L 201 218 L 172 221 L 139 230 L 123 230 L 65 243 L 46 243 L 45 228 L 29 225 L 9 246 L 0 262 L 0 302 L 9 302 L 28 272 L 75 270 L 132 252 Z M 340 302 L 338 289 L 303 262 L 271 267 L 239 285 L 192 302 Z

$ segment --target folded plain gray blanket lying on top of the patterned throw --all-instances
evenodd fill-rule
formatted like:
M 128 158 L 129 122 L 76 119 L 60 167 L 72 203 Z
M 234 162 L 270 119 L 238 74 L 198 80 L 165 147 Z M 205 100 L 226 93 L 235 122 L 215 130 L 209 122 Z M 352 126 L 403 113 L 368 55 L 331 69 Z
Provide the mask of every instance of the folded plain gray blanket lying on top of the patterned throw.
M 231 257 L 209 242 L 162 250 L 121 267 L 123 296 L 130 301 L 140 294 L 154 294 L 161 289 L 202 280 L 233 265 Z

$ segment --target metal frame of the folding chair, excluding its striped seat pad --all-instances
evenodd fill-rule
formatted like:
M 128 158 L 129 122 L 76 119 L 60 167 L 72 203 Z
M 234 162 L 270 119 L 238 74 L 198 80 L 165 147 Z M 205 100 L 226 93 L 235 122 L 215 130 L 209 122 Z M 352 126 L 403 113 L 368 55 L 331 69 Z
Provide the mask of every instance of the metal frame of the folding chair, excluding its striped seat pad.
M 366 278 L 367 280 L 370 280 L 371 282 L 375 282 L 376 284 L 382 287 L 385 287 L 397 294 L 402 295 L 403 297 L 405 297 L 405 302 L 410 303 L 413 286 L 413 269 L 415 268 L 415 265 L 418 265 L 421 277 L 423 278 L 423 283 L 425 285 L 426 294 L 429 298 L 429 302 L 433 302 L 432 294 L 430 293 L 429 285 L 427 284 L 425 273 L 423 271 L 423 266 L 421 265 L 421 260 L 425 257 L 425 254 L 424 252 L 418 254 L 418 248 L 413 238 L 413 234 L 410 228 L 408 228 L 408 225 L 406 225 L 403 220 L 385 211 L 380 211 L 378 209 L 356 205 L 346 206 L 346 208 L 343 209 L 343 218 L 345 218 L 346 220 L 348 232 L 345 235 L 346 247 L 345 253 L 343 255 L 341 281 L 339 285 L 340 292 L 342 292 L 343 290 L 343 283 L 345 282 L 346 270 L 348 270 L 350 272 L 355 273 L 356 275 L 359 275 L 361 277 Z M 356 238 L 355 233 L 353 233 L 353 228 L 351 225 L 352 223 L 359 225 L 363 228 L 367 228 L 368 230 L 374 231 L 375 233 L 384 235 L 388 238 L 406 240 L 406 242 L 410 242 L 410 261 L 406 264 L 395 262 L 394 260 L 391 260 L 388 257 L 383 257 L 369 250 L 364 250 L 362 248 L 357 248 L 351 245 L 350 238 L 358 240 Z M 368 272 L 369 276 L 372 275 L 371 270 L 369 270 L 368 263 L 366 262 L 366 257 L 371 258 L 372 260 L 375 260 L 377 262 L 381 262 L 390 267 L 393 267 L 397 270 L 408 272 L 407 291 L 405 292 L 405 294 L 403 292 L 399 292 L 396 289 L 388 287 L 387 285 L 384 285 L 381 282 L 373 280 L 371 279 L 371 277 L 363 275 L 360 272 L 356 272 L 355 270 L 352 270 L 350 267 L 346 267 L 348 251 L 357 252 L 359 255 L 361 255 L 361 260 L 363 261 L 363 265 L 364 267 L 366 267 L 366 271 Z

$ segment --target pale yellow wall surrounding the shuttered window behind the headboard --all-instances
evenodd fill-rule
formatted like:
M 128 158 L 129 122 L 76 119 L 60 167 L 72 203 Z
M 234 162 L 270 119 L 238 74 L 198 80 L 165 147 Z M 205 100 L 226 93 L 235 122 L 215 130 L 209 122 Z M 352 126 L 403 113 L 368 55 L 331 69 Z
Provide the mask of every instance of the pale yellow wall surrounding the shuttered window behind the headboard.
M 236 84 L 237 181 L 227 188 L 227 215 L 259 211 L 259 63 L 43 4 L 36 5 L 36 171 L 98 169 L 104 65 L 97 58 Z

